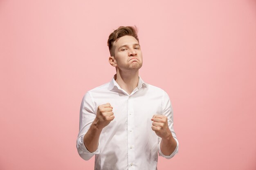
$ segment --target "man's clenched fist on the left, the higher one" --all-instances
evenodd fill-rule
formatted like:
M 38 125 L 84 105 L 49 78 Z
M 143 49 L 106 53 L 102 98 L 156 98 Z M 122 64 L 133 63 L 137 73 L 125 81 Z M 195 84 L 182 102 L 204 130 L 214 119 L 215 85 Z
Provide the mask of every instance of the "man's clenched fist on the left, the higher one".
M 115 118 L 112 108 L 109 103 L 98 106 L 97 115 L 94 120 L 97 124 L 97 128 L 103 129 Z

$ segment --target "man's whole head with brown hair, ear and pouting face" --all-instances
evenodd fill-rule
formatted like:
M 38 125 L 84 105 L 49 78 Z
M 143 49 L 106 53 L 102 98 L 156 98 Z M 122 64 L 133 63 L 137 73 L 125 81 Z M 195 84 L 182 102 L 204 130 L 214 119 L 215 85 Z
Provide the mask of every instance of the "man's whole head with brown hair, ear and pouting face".
M 142 66 L 142 53 L 136 26 L 120 26 L 109 35 L 109 63 L 119 71 L 137 71 Z

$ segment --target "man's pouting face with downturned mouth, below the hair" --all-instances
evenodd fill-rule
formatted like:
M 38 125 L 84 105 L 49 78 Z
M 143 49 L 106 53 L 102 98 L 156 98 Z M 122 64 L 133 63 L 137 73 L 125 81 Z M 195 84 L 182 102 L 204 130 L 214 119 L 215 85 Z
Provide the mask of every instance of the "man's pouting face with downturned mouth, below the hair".
M 130 35 L 118 38 L 113 43 L 115 56 L 112 56 L 119 71 L 137 71 L 142 66 L 142 53 L 139 42 Z

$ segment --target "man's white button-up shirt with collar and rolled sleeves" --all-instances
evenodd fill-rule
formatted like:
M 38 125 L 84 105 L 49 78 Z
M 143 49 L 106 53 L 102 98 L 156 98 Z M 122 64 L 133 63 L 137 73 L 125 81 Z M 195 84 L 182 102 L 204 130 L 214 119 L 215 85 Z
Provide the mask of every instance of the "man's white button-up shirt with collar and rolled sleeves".
M 83 137 L 96 117 L 98 106 L 106 103 L 113 107 L 115 119 L 103 128 L 99 146 L 91 153 L 85 148 Z M 153 115 L 168 117 L 168 126 L 177 142 L 171 155 L 166 156 L 160 150 L 161 138 L 151 129 Z M 140 76 L 130 95 L 120 88 L 114 77 L 85 93 L 76 148 L 85 160 L 95 155 L 94 170 L 157 170 L 157 153 L 171 159 L 178 152 L 178 146 L 168 94 L 161 88 L 146 84 Z

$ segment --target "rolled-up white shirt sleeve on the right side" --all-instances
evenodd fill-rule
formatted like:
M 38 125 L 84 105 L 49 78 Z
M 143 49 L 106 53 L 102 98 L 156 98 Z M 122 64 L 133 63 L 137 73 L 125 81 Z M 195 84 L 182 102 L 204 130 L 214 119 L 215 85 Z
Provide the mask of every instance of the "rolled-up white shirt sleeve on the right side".
M 179 149 L 179 142 L 177 140 L 177 137 L 176 137 L 176 133 L 174 131 L 174 128 L 173 128 L 173 107 L 171 105 L 171 101 L 170 101 L 170 98 L 168 96 L 168 94 L 164 91 L 164 94 L 163 94 L 163 99 L 162 99 L 162 113 L 161 115 L 165 115 L 168 119 L 168 126 L 169 126 L 169 129 L 171 130 L 171 133 L 173 135 L 173 138 L 175 139 L 176 143 L 177 143 L 177 146 L 175 148 L 175 150 L 173 151 L 173 153 L 171 153 L 171 155 L 164 155 L 160 149 L 160 144 L 161 144 L 161 137 L 158 137 L 158 153 L 159 153 L 159 156 L 162 156 L 162 157 L 165 157 L 166 159 L 171 159 L 174 155 L 176 155 L 178 153 L 178 149 Z

